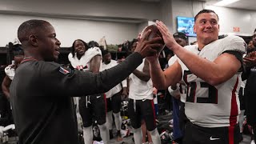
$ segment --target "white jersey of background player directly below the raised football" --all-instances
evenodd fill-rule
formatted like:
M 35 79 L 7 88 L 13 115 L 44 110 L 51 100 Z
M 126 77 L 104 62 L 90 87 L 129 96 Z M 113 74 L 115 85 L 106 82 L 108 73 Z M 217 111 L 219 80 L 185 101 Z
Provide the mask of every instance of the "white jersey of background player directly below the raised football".
M 137 67 L 137 70 L 142 71 L 144 67 L 145 58 L 140 66 Z M 153 82 L 150 78 L 148 82 L 142 81 L 134 74 L 129 76 L 129 98 L 142 100 L 142 99 L 153 99 Z

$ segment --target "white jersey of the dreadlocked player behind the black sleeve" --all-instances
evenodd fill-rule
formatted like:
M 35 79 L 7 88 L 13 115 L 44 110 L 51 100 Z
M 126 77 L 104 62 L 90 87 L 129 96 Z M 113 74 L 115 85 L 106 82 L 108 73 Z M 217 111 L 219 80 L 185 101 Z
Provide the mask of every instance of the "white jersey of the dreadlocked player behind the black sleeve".
M 102 51 L 98 47 L 92 47 L 86 50 L 80 59 L 78 59 L 77 54 L 74 54 L 73 58 L 71 53 L 68 55 L 68 58 L 74 69 L 86 71 L 90 70 L 90 60 L 96 55 L 102 56 Z

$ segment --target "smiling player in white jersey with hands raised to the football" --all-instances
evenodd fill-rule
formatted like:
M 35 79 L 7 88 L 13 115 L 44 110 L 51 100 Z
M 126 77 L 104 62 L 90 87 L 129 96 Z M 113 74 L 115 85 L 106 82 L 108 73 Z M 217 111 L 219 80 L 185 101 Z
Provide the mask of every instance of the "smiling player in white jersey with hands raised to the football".
M 218 15 L 213 10 L 201 10 L 194 20 L 198 45 L 186 49 L 157 22 L 166 46 L 178 60 L 162 71 L 156 57 L 147 58 L 152 81 L 160 90 L 186 83 L 185 114 L 190 120 L 186 122 L 186 143 L 238 143 L 238 90 L 246 43 L 237 36 L 218 39 Z

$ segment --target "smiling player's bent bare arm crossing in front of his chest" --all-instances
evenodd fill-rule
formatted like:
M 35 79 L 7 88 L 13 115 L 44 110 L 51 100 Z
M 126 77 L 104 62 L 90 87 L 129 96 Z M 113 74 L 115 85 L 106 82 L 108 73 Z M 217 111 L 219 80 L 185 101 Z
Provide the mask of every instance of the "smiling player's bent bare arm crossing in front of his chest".
M 174 53 L 184 62 L 191 73 L 202 78 L 212 86 L 216 86 L 230 79 L 241 68 L 242 63 L 234 54 L 223 53 L 214 62 L 182 48 L 175 48 Z M 193 61 L 191 61 L 193 59 Z

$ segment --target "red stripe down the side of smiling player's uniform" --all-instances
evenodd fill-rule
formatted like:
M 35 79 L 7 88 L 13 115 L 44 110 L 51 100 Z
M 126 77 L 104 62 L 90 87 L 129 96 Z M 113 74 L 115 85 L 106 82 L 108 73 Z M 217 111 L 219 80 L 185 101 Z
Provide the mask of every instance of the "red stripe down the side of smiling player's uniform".
M 230 110 L 230 127 L 229 127 L 229 143 L 234 144 L 234 126 L 237 124 L 238 117 L 238 103 L 236 98 L 236 90 L 238 88 L 238 77 L 235 82 L 234 89 L 232 90 L 231 96 L 231 110 Z

